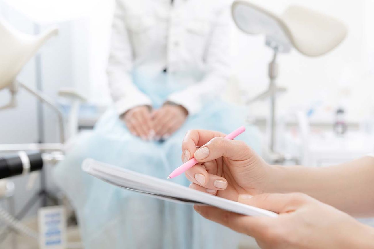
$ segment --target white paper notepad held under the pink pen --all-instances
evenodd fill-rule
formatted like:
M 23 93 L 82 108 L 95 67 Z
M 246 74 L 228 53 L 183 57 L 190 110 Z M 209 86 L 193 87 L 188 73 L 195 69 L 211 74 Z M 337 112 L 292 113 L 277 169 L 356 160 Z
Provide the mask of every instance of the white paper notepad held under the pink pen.
M 227 211 L 251 216 L 276 217 L 278 214 L 253 206 L 227 200 L 181 186 L 169 180 L 140 174 L 128 169 L 104 164 L 93 159 L 86 159 L 82 164 L 83 171 L 113 185 L 137 191 L 158 199 L 190 204 L 209 205 Z

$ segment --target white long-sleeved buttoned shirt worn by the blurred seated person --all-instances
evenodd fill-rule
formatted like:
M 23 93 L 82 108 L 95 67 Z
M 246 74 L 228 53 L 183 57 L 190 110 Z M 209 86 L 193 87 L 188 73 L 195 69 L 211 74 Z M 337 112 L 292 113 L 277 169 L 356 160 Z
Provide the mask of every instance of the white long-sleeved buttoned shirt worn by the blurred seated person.
M 116 0 L 108 80 L 119 114 L 151 100 L 132 82 L 167 68 L 187 88 L 168 96 L 193 115 L 220 94 L 230 75 L 230 1 Z M 149 84 L 152 84 L 150 82 Z

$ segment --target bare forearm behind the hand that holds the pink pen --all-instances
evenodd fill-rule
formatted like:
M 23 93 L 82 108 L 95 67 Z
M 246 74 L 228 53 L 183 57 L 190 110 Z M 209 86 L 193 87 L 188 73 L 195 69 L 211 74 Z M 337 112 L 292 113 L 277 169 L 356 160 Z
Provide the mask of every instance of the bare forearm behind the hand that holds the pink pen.
M 267 192 L 302 192 L 355 216 L 374 214 L 374 158 L 323 168 L 272 166 Z

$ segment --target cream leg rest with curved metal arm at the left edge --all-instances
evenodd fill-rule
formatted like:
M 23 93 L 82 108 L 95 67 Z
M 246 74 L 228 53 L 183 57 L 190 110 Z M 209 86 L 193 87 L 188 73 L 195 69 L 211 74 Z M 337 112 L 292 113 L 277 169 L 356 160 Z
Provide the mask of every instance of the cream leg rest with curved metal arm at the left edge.
M 30 94 L 35 96 L 37 99 L 49 106 L 53 112 L 58 116 L 58 127 L 60 135 L 60 143 L 63 144 L 66 140 L 65 130 L 64 130 L 64 120 L 62 113 L 55 102 L 46 96 L 44 93 L 38 90 L 34 90 L 28 87 L 24 83 L 17 80 L 17 75 L 23 68 L 23 66 L 28 62 L 28 60 L 33 57 L 38 49 L 51 37 L 58 34 L 56 28 L 49 29 L 40 35 L 27 35 L 21 33 L 11 27 L 4 21 L 0 21 L 0 91 L 3 89 L 8 89 L 10 92 L 9 103 L 0 106 L 1 109 L 15 108 L 17 105 L 16 96 L 20 88 L 28 91 Z M 72 108 L 72 116 L 77 113 L 77 103 L 84 102 L 86 99 L 81 94 L 77 93 L 71 89 L 62 89 L 59 91 L 59 96 L 65 97 L 73 100 L 74 108 Z M 72 118 L 68 127 L 73 127 L 77 125 L 77 121 Z M 52 149 L 56 146 L 57 150 L 61 149 L 61 144 L 47 144 L 46 149 Z M 23 149 L 34 149 L 39 148 L 39 144 L 23 144 L 20 145 L 19 150 Z M 44 149 L 42 146 L 42 149 Z M 16 146 L 13 145 L 11 150 L 16 150 Z

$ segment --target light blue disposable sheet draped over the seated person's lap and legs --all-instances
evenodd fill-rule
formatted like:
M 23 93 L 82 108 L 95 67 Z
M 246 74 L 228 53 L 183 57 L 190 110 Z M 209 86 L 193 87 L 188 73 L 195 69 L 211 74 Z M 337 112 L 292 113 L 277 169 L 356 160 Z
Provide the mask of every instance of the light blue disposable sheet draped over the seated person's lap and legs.
M 170 93 L 183 87 L 169 84 L 165 74 L 157 76 L 155 84 L 137 77 L 134 82 L 151 98 L 154 108 L 159 108 Z M 166 179 L 181 165 L 181 143 L 187 130 L 199 128 L 228 134 L 245 124 L 246 114 L 245 108 L 210 100 L 200 113 L 189 116 L 179 130 L 161 143 L 133 136 L 110 108 L 93 132 L 82 135 L 53 172 L 58 186 L 76 210 L 85 248 L 237 248 L 238 234 L 200 217 L 191 205 L 165 202 L 115 187 L 82 172 L 81 163 L 85 158 L 94 158 Z M 246 128 L 236 139 L 259 151 L 257 129 Z M 171 181 L 190 184 L 184 175 Z

